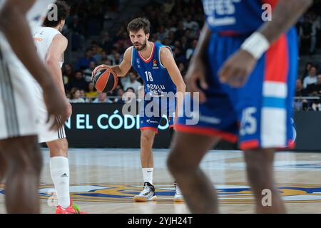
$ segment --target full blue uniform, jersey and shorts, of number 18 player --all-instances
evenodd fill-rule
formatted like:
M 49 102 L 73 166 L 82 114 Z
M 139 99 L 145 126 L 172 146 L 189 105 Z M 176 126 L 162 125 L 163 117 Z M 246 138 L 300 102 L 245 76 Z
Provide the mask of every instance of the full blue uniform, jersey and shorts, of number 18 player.
M 169 125 L 173 126 L 176 86 L 167 69 L 161 63 L 161 48 L 169 47 L 161 43 L 152 43 L 152 45 L 153 49 L 148 59 L 144 59 L 141 53 L 133 47 L 131 66 L 141 76 L 145 87 L 146 97 L 140 110 L 140 128 L 141 130 L 150 129 L 157 132 L 163 115 L 167 116 Z M 173 95 L 173 100 L 170 100 L 170 95 Z M 150 110 L 146 107 L 151 101 L 154 102 L 153 110 L 151 110 L 151 113 L 146 113 Z

